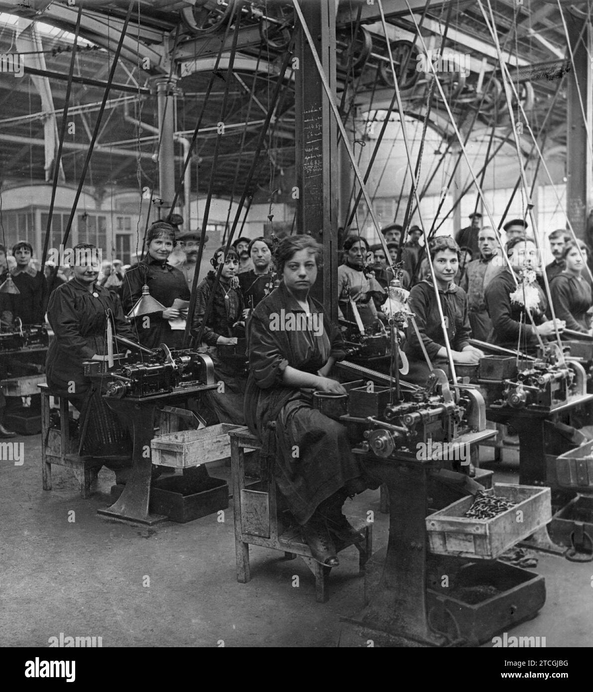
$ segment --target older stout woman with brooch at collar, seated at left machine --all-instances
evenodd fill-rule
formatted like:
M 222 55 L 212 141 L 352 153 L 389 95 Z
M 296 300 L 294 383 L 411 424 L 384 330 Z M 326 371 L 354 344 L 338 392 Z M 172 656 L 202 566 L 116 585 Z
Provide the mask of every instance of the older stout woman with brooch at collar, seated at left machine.
M 77 250 L 95 250 L 95 246 L 80 243 Z M 119 300 L 96 283 L 99 269 L 91 260 L 81 262 L 73 267 L 73 280 L 58 286 L 50 296 L 47 316 L 54 336 L 46 358 L 47 383 L 52 394 L 68 397 L 80 410 L 81 453 L 126 456 L 126 451 L 131 453 L 125 445 L 129 443 L 127 430 L 105 405 L 99 388 L 84 375 L 82 365 L 84 361 L 107 361 L 111 349 L 107 334 L 136 341 Z

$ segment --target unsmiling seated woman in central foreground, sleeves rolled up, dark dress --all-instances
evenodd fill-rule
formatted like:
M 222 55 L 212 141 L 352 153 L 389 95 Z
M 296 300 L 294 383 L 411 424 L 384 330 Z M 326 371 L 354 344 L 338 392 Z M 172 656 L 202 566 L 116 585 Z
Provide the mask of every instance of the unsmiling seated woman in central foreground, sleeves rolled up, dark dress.
M 312 405 L 313 390 L 346 393 L 329 378 L 334 362 L 345 356 L 340 330 L 309 295 L 321 253 L 308 235 L 286 237 L 275 251 L 280 286 L 259 303 L 247 325 L 245 417 L 262 440 L 262 454 L 271 459 L 275 482 L 313 558 L 335 567 L 330 531 L 356 540 L 341 507 L 368 485 L 345 426 Z

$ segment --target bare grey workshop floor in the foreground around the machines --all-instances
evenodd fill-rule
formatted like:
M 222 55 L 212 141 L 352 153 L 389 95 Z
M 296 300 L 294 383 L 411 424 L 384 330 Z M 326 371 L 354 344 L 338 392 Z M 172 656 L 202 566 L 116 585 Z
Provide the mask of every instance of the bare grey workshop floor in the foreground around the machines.
M 95 513 L 109 504 L 111 471 L 102 469 L 98 491 L 82 500 L 73 472 L 54 466 L 53 490 L 44 492 L 40 436 L 16 441 L 24 442 L 24 464 L 0 462 L 0 646 L 48 646 L 60 632 L 102 637 L 102 646 L 334 646 L 340 615 L 361 608 L 354 547 L 340 553 L 325 604 L 316 603 L 300 559 L 264 548 L 251 547 L 253 579 L 239 584 L 232 509 L 224 523 L 216 515 L 152 529 L 113 522 Z M 221 471 L 228 474 L 211 475 Z M 497 480 L 515 479 L 509 467 L 497 471 Z M 347 508 L 361 517 L 374 511 L 374 543 L 383 547 L 378 491 Z M 592 646 L 591 563 L 538 558 L 533 571 L 545 576 L 547 601 L 513 635 L 546 637 L 548 647 Z

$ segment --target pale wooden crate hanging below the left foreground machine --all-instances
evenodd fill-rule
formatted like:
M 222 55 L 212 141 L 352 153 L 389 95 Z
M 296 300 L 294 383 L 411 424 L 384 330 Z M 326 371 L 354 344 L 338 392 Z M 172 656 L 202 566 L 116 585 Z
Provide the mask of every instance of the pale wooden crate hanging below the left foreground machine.
M 150 441 L 152 463 L 171 468 L 199 466 L 230 457 L 230 430 L 243 428 L 219 423 L 200 430 L 181 430 L 159 435 Z

